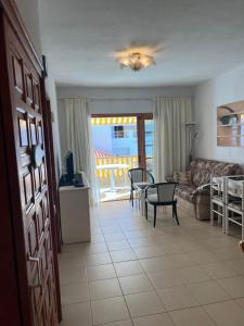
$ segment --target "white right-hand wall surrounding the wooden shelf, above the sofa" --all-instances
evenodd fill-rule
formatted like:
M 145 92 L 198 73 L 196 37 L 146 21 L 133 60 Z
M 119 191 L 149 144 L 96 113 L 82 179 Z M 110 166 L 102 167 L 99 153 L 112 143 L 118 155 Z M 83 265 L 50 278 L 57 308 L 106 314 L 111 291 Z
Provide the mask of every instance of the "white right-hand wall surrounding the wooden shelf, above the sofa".
M 244 100 L 244 65 L 195 87 L 195 121 L 200 136 L 195 156 L 244 165 L 244 148 L 217 147 L 217 106 Z

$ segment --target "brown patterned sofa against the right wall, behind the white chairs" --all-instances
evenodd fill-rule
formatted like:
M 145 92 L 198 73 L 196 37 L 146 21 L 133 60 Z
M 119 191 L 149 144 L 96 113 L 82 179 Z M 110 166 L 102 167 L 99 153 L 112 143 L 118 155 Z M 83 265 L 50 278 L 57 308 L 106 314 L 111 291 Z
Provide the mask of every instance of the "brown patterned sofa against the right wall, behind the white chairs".
M 210 218 L 210 175 L 228 176 L 242 174 L 239 164 L 195 159 L 187 172 L 167 176 L 167 181 L 178 183 L 176 197 L 179 209 L 197 220 Z

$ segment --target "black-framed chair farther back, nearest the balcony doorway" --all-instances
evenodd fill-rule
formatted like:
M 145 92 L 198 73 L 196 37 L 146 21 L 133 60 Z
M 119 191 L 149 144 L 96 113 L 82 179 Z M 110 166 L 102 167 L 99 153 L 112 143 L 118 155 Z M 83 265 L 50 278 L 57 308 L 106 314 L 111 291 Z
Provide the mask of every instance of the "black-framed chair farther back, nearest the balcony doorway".
M 151 172 L 142 167 L 130 168 L 128 171 L 130 179 L 130 201 L 133 206 L 133 191 L 138 189 L 145 189 L 147 186 L 154 184 L 154 177 Z

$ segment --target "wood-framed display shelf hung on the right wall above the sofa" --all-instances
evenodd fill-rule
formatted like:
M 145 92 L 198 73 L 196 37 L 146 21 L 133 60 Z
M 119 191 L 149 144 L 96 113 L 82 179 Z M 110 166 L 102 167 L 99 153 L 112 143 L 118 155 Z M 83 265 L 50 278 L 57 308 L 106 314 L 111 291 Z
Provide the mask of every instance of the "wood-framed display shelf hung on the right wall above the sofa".
M 244 147 L 244 101 L 217 108 L 217 146 Z

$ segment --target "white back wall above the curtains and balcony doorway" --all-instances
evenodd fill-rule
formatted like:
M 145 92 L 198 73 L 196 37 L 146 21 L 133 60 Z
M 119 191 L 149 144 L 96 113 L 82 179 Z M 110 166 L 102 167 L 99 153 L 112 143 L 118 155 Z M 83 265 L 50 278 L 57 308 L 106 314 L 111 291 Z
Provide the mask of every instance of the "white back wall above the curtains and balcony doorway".
M 192 87 L 152 87 L 152 88 L 92 88 L 57 87 L 57 98 L 86 97 L 91 114 L 120 114 L 153 112 L 157 96 L 191 96 Z M 59 101 L 59 123 L 61 155 L 64 158 L 66 141 L 65 109 Z

